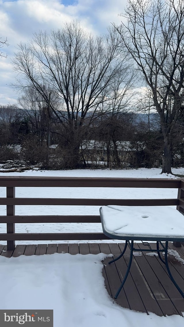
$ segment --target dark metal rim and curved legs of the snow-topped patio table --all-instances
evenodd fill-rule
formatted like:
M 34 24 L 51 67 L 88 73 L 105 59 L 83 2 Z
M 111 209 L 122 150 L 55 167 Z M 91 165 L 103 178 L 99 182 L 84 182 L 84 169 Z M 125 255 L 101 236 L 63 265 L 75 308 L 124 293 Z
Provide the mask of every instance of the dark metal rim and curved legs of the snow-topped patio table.
M 122 281 L 122 283 L 121 283 L 121 285 L 120 285 L 120 287 L 119 287 L 119 289 L 118 289 L 118 291 L 116 292 L 116 295 L 115 295 L 115 299 L 117 299 L 117 297 L 118 297 L 118 295 L 119 295 L 119 293 L 120 293 L 120 291 L 121 291 L 121 289 L 122 289 L 122 287 L 123 287 L 123 285 L 124 285 L 124 283 L 126 282 L 126 279 L 127 279 L 127 276 L 128 276 L 128 274 L 129 274 L 129 271 L 130 271 L 130 267 L 131 267 L 131 264 L 132 264 L 132 258 L 133 258 L 133 251 L 138 251 L 138 252 L 142 252 L 142 251 L 146 251 L 146 252 L 157 252 L 157 254 L 158 254 L 158 257 L 159 257 L 159 259 L 161 260 L 161 262 L 162 263 L 164 263 L 164 265 L 166 266 L 166 268 L 167 268 L 167 271 L 168 271 L 168 274 L 169 274 L 169 277 L 171 278 L 171 280 L 172 280 L 172 282 L 173 282 L 173 284 L 176 286 L 176 288 L 177 288 L 177 290 L 179 291 L 179 293 L 181 294 L 181 296 L 184 298 L 184 292 L 181 290 L 181 288 L 178 286 L 178 284 L 175 282 L 175 280 L 174 280 L 174 278 L 173 278 L 173 276 L 172 276 L 172 274 L 171 274 L 171 271 L 170 271 L 170 269 L 169 269 L 169 265 L 168 265 L 168 260 L 167 260 L 167 254 L 168 254 L 168 242 L 182 242 L 182 241 L 184 241 L 184 238 L 183 239 L 181 239 L 181 238 L 172 238 L 172 237 L 150 237 L 150 241 L 156 241 L 156 249 L 155 250 L 153 250 L 153 249 L 151 249 L 151 247 L 150 247 L 150 245 L 149 245 L 149 243 L 147 243 L 147 242 L 142 242 L 142 244 L 143 245 L 147 245 L 148 247 L 149 247 L 149 250 L 148 249 L 135 249 L 134 248 L 134 241 L 138 241 L 138 240 L 140 240 L 140 241 L 143 241 L 143 240 L 147 240 L 148 241 L 148 238 L 146 237 L 146 238 L 144 238 L 144 237 L 136 237 L 135 238 L 135 236 L 134 237 L 129 237 L 128 235 L 127 235 L 127 237 L 126 236 L 120 236 L 120 235 L 118 235 L 117 234 L 117 236 L 115 236 L 115 235 L 113 235 L 113 234 L 111 234 L 111 233 L 109 233 L 109 232 L 107 232 L 106 230 L 105 230 L 105 228 L 104 228 L 104 224 L 103 224 L 103 217 L 102 217 L 102 213 L 101 213 L 101 208 L 100 208 L 100 217 L 101 217 L 101 224 L 102 224 L 102 230 L 103 230 L 103 233 L 106 235 L 106 236 L 108 236 L 108 237 L 110 237 L 110 238 L 112 238 L 112 239 L 115 239 L 115 237 L 116 237 L 116 239 L 120 239 L 120 240 L 125 240 L 125 246 L 124 246 L 124 249 L 123 249 L 123 251 L 122 251 L 122 253 L 116 258 L 116 259 L 114 259 L 114 260 L 111 260 L 111 261 L 109 261 L 108 263 L 109 264 L 111 264 L 111 263 L 113 263 L 113 262 L 115 262 L 115 261 L 117 261 L 117 260 L 119 260 L 122 256 L 123 256 L 123 254 L 125 253 L 125 251 L 126 251 L 126 248 L 127 248 L 127 245 L 129 245 L 129 247 L 130 247 L 130 259 L 129 259 L 129 263 L 128 263 L 128 267 L 127 267 L 127 270 L 126 270 L 126 273 L 125 273 L 125 276 L 124 276 L 124 278 L 123 278 L 123 281 Z M 131 240 L 131 243 L 130 243 L 130 240 Z M 165 246 L 163 245 L 163 243 L 162 242 L 165 242 Z M 162 246 L 162 249 L 160 250 L 159 249 L 159 244 Z M 165 261 L 161 258 L 161 255 L 160 255 L 160 252 L 165 252 Z

